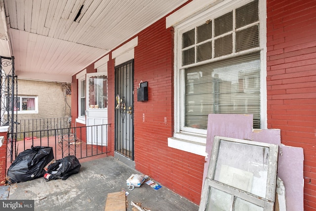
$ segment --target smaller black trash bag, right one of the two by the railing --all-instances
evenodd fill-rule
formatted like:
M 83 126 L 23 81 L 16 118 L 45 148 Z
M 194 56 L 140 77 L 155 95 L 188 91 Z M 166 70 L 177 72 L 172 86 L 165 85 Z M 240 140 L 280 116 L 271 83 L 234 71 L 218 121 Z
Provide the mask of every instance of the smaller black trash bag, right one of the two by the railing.
M 68 177 L 70 177 L 72 174 L 78 173 L 80 170 L 80 167 L 81 167 L 81 164 L 79 163 L 79 160 L 76 158 L 76 156 L 69 155 L 65 158 L 57 160 L 53 164 L 50 164 L 46 170 L 46 173 L 48 173 L 48 175 L 44 176 L 44 178 L 46 181 L 49 181 L 52 179 L 65 180 Z

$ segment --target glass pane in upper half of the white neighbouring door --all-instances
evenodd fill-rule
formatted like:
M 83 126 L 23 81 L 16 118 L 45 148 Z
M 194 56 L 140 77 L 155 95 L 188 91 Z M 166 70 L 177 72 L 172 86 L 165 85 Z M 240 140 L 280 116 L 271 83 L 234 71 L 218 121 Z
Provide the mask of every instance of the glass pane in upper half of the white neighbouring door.
M 106 108 L 108 105 L 107 76 L 89 78 L 89 108 Z

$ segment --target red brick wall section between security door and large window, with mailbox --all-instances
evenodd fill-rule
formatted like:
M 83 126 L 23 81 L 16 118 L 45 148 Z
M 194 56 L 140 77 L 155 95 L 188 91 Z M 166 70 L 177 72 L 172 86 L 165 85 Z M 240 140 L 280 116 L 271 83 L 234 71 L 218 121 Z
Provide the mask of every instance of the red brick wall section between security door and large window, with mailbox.
M 148 101 L 134 97 L 135 165 L 162 185 L 199 204 L 204 157 L 168 147 L 173 135 L 173 29 L 159 20 L 138 35 L 134 93 L 148 82 Z

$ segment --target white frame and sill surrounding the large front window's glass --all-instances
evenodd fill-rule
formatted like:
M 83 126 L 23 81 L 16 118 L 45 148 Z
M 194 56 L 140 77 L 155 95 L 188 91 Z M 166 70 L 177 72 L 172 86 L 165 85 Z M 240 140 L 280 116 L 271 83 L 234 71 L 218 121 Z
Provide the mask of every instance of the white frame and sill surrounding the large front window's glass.
M 174 25 L 174 134 L 173 137 L 168 138 L 168 146 L 194 154 L 206 155 L 206 129 L 198 129 L 192 127 L 184 127 L 184 91 L 185 77 L 181 71 L 182 67 L 182 33 L 187 32 L 198 25 L 202 25 L 206 20 L 217 18 L 235 8 L 243 6 L 253 0 L 224 0 L 217 4 L 205 5 L 209 9 L 202 9 L 200 13 L 196 14 L 190 19 L 180 21 L 178 25 Z M 194 2 L 194 1 L 193 1 Z M 189 6 L 189 5 L 188 5 Z M 186 6 L 184 10 L 188 9 Z M 266 1 L 259 0 L 259 42 L 260 46 L 254 49 L 244 50 L 241 52 L 234 52 L 230 55 L 221 56 L 212 59 L 212 61 L 221 60 L 224 58 L 231 58 L 232 55 L 243 55 L 250 52 L 260 51 L 260 116 L 261 128 L 267 128 L 267 83 L 266 83 L 266 67 L 267 67 L 267 47 L 266 47 Z M 174 17 L 173 17 L 174 18 Z M 202 61 L 198 64 L 209 63 L 210 61 Z M 195 66 L 197 63 L 187 65 L 185 68 Z M 182 73 L 181 73 L 182 72 Z

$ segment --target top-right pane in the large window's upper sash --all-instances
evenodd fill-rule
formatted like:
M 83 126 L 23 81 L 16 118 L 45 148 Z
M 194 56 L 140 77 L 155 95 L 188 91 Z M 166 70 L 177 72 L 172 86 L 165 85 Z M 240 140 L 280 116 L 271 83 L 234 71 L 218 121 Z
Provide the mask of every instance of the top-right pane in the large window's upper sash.
M 258 0 L 252 1 L 236 9 L 236 28 L 246 26 L 259 20 Z

